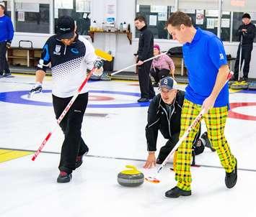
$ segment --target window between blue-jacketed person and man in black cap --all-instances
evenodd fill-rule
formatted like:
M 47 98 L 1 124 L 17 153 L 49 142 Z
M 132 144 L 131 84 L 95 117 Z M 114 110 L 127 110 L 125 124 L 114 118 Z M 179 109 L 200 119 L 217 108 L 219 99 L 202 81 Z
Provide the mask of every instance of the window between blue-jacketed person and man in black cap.
M 50 33 L 50 0 L 15 0 L 16 32 Z

